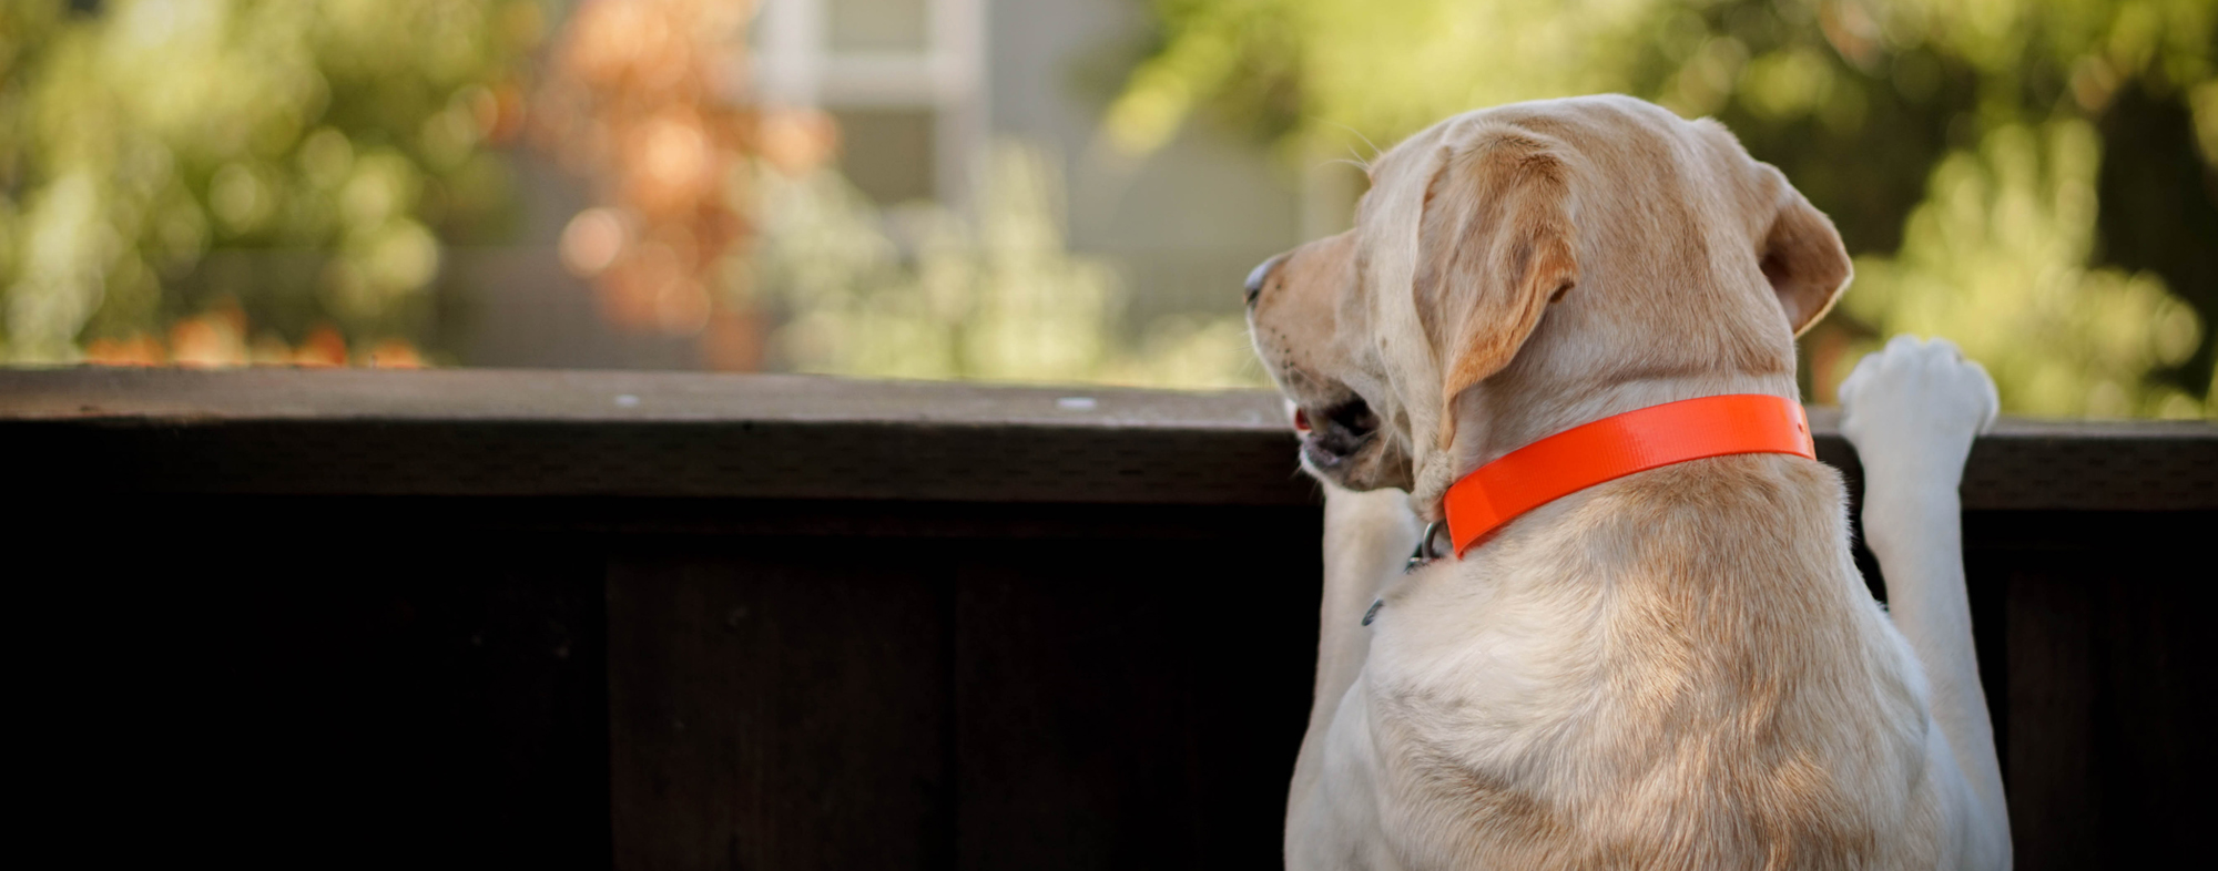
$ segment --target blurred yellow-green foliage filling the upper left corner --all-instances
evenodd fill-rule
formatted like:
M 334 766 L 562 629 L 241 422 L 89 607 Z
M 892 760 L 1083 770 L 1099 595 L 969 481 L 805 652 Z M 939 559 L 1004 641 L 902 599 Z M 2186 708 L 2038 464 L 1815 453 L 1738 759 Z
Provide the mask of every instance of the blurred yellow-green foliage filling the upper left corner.
M 0 359 L 433 339 L 439 244 L 508 219 L 488 140 L 539 31 L 528 0 L 7 0 Z

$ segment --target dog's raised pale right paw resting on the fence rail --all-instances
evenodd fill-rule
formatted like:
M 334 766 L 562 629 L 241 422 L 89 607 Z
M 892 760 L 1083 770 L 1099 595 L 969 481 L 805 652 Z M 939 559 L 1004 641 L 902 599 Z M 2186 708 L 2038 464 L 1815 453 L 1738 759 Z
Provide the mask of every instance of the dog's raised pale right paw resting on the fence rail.
M 1994 379 L 1947 339 L 1899 335 L 1841 381 L 1841 434 L 1868 474 L 1956 481 L 1996 408 Z

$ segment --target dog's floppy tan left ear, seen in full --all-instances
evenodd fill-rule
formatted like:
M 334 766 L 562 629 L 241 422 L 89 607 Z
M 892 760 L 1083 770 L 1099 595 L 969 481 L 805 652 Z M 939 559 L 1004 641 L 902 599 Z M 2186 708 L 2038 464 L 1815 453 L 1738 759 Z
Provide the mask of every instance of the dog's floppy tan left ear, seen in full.
M 1426 188 L 1411 290 L 1439 361 L 1437 450 L 1455 443 L 1455 397 L 1508 366 L 1579 284 L 1568 197 L 1564 160 L 1515 131 L 1455 148 Z

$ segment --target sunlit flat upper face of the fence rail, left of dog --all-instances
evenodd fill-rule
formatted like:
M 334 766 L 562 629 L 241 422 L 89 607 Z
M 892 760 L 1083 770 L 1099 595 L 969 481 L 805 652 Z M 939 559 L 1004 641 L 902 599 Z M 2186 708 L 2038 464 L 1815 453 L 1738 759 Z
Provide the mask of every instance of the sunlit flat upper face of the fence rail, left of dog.
M 1262 390 L 577 370 L 0 370 L 0 419 L 889 423 L 1284 430 Z

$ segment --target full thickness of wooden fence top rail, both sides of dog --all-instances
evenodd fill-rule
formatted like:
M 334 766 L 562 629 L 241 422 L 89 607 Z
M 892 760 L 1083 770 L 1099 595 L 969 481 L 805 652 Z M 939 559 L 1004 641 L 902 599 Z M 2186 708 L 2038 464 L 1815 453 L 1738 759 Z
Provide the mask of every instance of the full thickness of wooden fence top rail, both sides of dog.
M 1854 483 L 1839 414 L 1819 457 Z M 1264 390 L 566 370 L 0 370 L 55 485 L 153 492 L 1309 503 Z M 67 461 L 67 459 L 73 459 Z M 2218 510 L 2209 421 L 2003 419 L 1967 508 Z

